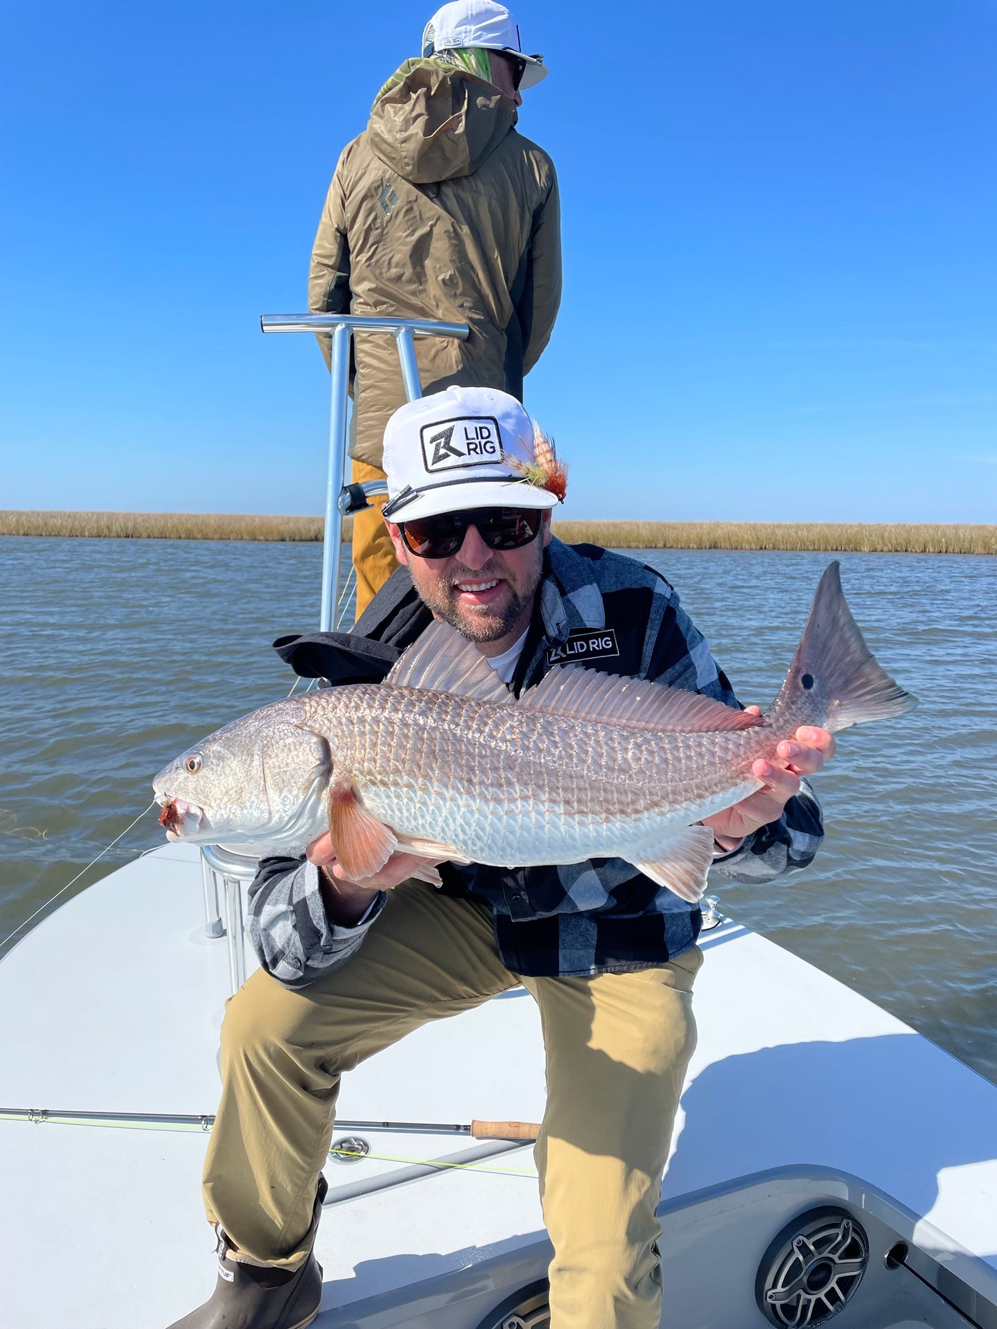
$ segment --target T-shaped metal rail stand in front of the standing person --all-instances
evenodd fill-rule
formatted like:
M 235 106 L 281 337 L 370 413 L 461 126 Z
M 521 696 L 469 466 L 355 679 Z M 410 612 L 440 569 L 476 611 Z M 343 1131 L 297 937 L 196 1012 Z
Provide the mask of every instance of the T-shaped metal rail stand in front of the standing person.
M 356 332 L 389 332 L 397 346 L 401 381 L 405 399 L 415 401 L 421 397 L 419 365 L 415 355 L 415 338 L 453 336 L 467 338 L 465 323 L 436 323 L 432 319 L 395 319 L 360 314 L 265 314 L 259 326 L 265 332 L 327 332 L 331 338 L 331 399 L 328 423 L 328 473 L 326 478 L 326 530 L 322 550 L 322 617 L 319 631 L 327 633 L 335 627 L 336 605 L 339 603 L 339 558 L 342 552 L 342 514 L 358 512 L 366 506 L 366 500 L 383 489 L 374 482 L 363 486 L 364 502 L 359 494 L 351 493 L 356 486 L 343 484 L 346 473 L 346 432 L 347 400 L 350 396 L 350 347 Z

